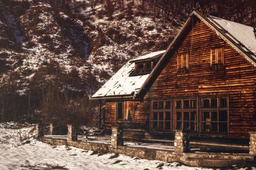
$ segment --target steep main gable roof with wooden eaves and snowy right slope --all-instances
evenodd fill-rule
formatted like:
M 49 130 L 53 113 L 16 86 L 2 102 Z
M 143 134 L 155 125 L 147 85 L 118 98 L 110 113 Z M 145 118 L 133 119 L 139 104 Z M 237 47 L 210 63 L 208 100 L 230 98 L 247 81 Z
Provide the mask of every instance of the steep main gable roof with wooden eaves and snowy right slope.
M 178 40 L 182 39 L 182 35 L 193 27 L 193 18 L 197 17 L 215 31 L 224 41 L 230 44 L 236 51 L 244 56 L 249 62 L 256 67 L 256 29 L 250 26 L 228 21 L 214 16 L 203 16 L 199 12 L 193 11 L 187 19 L 181 30 L 178 32 L 166 52 L 159 59 L 156 67 L 151 71 L 147 80 L 138 90 L 137 95 L 142 96 L 143 91 L 148 89 L 152 84 L 152 80 L 157 77 L 158 70 L 162 69 L 168 56 L 177 48 Z M 192 27 L 191 27 L 192 26 Z M 169 54 L 169 55 L 168 55 Z M 144 91 L 145 92 L 145 91 Z

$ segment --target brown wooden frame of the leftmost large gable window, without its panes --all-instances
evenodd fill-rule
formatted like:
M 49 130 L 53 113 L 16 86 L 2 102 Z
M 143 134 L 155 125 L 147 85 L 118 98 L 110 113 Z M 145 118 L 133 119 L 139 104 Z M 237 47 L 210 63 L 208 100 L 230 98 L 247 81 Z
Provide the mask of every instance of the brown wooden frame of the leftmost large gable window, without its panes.
M 166 108 L 166 102 L 170 102 L 170 108 Z M 158 102 L 158 108 L 154 109 L 153 103 Z M 159 108 L 159 102 L 163 102 L 163 108 Z M 150 125 L 149 125 L 149 131 L 152 133 L 173 133 L 173 99 L 172 98 L 161 98 L 161 99 L 151 99 L 150 100 Z M 166 113 L 169 112 L 169 120 L 166 120 Z M 157 113 L 157 120 L 154 120 L 154 113 Z M 162 120 L 159 120 L 159 113 L 163 113 Z M 162 121 L 162 130 L 159 131 L 159 122 Z M 157 122 L 158 129 L 157 131 L 154 131 L 154 122 Z M 166 122 L 169 122 L 169 130 L 166 129 Z

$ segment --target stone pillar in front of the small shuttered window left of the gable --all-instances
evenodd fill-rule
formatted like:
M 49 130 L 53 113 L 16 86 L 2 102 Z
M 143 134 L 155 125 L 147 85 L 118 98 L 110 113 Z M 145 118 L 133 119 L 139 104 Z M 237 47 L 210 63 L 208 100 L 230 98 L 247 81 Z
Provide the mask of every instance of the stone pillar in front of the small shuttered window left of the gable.
M 117 148 L 118 146 L 123 145 L 123 129 L 122 127 L 112 127 L 112 135 L 111 135 L 111 147 Z

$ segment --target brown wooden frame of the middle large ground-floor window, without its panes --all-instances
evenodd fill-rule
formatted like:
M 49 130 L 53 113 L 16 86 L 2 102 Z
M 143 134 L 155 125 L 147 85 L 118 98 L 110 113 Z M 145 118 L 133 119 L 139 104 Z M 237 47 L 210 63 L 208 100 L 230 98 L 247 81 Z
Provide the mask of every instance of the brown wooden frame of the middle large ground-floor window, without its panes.
M 183 101 L 184 100 L 189 100 L 189 105 L 190 105 L 190 101 L 191 100 L 196 100 L 196 108 L 187 108 L 187 109 L 184 109 L 183 107 Z M 176 104 L 177 102 L 176 101 L 181 101 L 181 108 L 180 109 L 177 109 L 176 108 Z M 196 112 L 196 117 L 195 117 L 195 131 L 194 132 L 191 132 L 190 130 L 190 133 L 191 134 L 199 134 L 199 121 L 198 121 L 198 108 L 199 108 L 199 105 L 198 105 L 198 96 L 189 96 L 189 97 L 176 97 L 173 99 L 173 130 L 176 130 L 176 127 L 177 127 L 177 112 L 181 112 L 181 120 L 179 122 L 181 122 L 181 129 L 184 129 L 184 122 L 193 122 L 191 120 L 191 112 Z M 189 118 L 190 120 L 184 120 L 184 112 L 189 112 Z M 190 124 L 191 126 L 191 124 Z

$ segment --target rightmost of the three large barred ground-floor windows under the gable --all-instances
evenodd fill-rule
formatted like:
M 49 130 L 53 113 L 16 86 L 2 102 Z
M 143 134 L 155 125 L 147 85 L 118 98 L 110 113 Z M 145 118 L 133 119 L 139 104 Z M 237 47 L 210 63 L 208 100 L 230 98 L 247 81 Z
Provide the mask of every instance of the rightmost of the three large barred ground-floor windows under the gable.
M 201 134 L 228 135 L 228 97 L 200 98 Z

